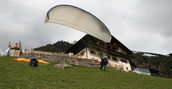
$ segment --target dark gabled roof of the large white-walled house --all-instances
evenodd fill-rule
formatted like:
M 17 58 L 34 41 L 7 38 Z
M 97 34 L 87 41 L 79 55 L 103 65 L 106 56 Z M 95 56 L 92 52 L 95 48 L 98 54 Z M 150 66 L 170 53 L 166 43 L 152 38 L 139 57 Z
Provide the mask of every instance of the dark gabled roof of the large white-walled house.
M 106 45 L 106 47 L 105 47 Z M 111 47 L 112 46 L 112 47 Z M 114 51 L 115 48 L 113 47 L 120 47 L 123 49 L 128 55 L 132 54 L 132 51 L 130 51 L 126 46 L 124 46 L 120 41 L 118 41 L 115 37 L 112 36 L 110 43 L 105 43 L 91 35 L 85 35 L 82 37 L 77 43 L 75 43 L 72 47 L 70 47 L 66 53 L 72 52 L 74 54 L 80 52 L 85 47 L 91 47 L 93 49 L 97 49 L 99 51 Z

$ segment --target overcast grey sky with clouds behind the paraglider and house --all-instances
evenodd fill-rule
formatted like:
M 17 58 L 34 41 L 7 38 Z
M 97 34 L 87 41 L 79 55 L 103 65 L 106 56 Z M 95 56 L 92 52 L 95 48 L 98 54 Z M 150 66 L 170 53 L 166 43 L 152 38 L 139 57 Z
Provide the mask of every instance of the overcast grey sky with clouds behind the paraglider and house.
M 0 0 L 0 53 L 8 42 L 31 49 L 83 37 L 78 30 L 44 23 L 47 11 L 60 4 L 92 13 L 130 50 L 172 52 L 172 0 Z

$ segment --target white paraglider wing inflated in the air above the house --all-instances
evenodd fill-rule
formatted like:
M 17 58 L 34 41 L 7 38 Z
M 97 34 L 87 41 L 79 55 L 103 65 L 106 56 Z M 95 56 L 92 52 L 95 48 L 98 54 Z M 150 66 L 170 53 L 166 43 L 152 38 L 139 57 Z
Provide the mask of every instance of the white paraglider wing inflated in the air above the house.
M 62 24 L 83 31 L 104 42 L 110 42 L 108 28 L 91 13 L 71 5 L 58 5 L 51 8 L 45 22 Z

